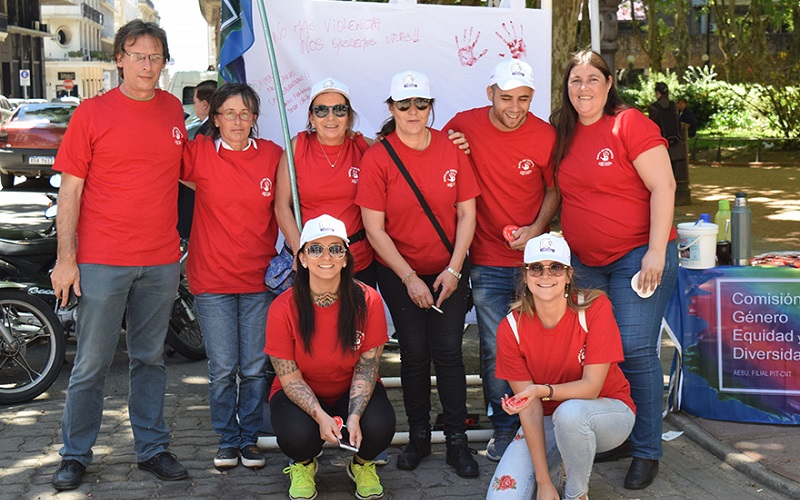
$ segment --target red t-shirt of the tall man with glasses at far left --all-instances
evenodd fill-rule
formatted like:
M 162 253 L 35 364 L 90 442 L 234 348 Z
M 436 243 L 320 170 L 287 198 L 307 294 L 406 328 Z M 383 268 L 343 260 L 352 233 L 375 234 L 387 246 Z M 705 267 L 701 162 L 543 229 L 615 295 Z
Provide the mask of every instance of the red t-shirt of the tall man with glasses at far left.
M 180 257 L 178 174 L 186 140 L 181 103 L 119 88 L 75 110 L 53 166 L 84 179 L 78 263 L 157 266 Z

